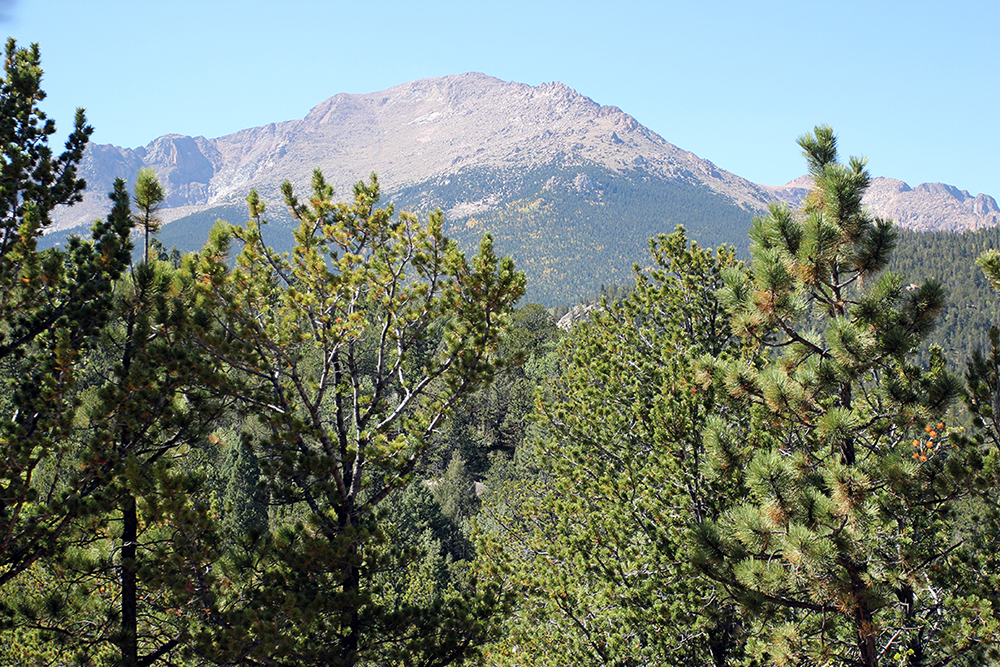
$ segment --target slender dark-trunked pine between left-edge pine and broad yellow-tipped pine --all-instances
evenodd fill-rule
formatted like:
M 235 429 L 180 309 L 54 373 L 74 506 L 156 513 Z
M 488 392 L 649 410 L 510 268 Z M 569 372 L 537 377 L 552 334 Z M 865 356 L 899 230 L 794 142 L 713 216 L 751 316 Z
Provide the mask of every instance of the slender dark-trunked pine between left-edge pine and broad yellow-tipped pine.
M 140 179 L 133 217 L 124 181 L 116 219 L 148 220 L 159 183 Z M 148 244 L 146 244 L 148 248 Z M 175 659 L 206 619 L 217 555 L 199 458 L 222 404 L 213 359 L 190 344 L 191 285 L 168 262 L 144 255 L 116 281 L 112 316 L 85 372 L 65 465 L 100 487 L 85 521 L 49 557 L 45 594 L 19 607 L 22 626 L 95 664 Z M 99 659 L 100 658 L 100 659 Z

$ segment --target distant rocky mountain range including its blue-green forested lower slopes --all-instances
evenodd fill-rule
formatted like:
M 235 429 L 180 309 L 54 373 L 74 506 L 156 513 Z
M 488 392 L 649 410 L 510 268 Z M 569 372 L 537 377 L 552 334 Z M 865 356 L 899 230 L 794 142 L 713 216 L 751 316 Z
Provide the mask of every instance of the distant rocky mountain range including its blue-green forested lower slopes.
M 631 279 L 649 237 L 684 224 L 706 245 L 746 244 L 769 202 L 801 201 L 808 179 L 751 183 L 684 151 L 613 106 L 560 83 L 529 86 L 478 73 L 424 79 L 363 95 L 339 94 L 301 120 L 217 139 L 166 135 L 142 148 L 92 145 L 84 202 L 61 211 L 69 229 L 103 216 L 115 177 L 152 167 L 166 191 L 163 240 L 200 246 L 216 217 L 240 222 L 257 188 L 287 224 L 278 187 L 300 192 L 314 168 L 338 193 L 376 172 L 397 208 L 440 207 L 447 232 L 472 246 L 484 232 L 529 276 L 529 298 L 573 301 Z M 920 231 L 1000 223 L 996 201 L 949 185 L 910 188 L 875 179 L 866 202 Z M 276 241 L 276 244 L 278 241 Z

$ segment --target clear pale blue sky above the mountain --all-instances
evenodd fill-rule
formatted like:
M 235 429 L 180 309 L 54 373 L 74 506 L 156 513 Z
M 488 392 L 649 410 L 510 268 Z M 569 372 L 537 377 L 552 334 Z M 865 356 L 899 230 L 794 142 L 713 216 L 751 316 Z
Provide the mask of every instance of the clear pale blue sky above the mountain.
M 301 118 L 340 92 L 479 71 L 562 81 L 752 181 L 833 125 L 876 175 L 1000 197 L 1000 3 L 0 0 L 65 134 L 135 147 Z

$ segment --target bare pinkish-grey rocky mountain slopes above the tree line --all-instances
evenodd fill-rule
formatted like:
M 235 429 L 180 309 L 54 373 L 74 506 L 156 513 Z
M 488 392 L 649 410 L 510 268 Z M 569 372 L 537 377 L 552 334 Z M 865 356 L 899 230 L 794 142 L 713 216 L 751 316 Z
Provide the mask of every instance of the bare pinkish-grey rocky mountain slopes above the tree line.
M 463 168 L 518 169 L 560 159 L 706 184 L 752 212 L 774 200 L 794 205 L 803 194 L 804 177 L 783 186 L 752 183 L 671 144 L 619 107 L 600 105 L 565 84 L 530 86 L 468 72 L 372 93 L 338 93 L 301 119 L 214 139 L 167 134 L 131 149 L 91 145 L 81 168 L 91 188 L 83 205 L 60 212 L 57 227 L 103 215 L 104 194 L 114 178 L 134 180 L 143 166 L 164 181 L 164 220 L 170 222 L 238 204 L 254 187 L 276 198 L 281 181 L 304 187 L 317 167 L 338 192 L 349 193 L 353 183 L 377 172 L 392 193 Z M 866 203 L 917 231 L 1000 224 L 993 197 L 972 197 L 943 183 L 911 188 L 879 177 Z M 489 203 L 460 203 L 454 215 L 483 205 Z

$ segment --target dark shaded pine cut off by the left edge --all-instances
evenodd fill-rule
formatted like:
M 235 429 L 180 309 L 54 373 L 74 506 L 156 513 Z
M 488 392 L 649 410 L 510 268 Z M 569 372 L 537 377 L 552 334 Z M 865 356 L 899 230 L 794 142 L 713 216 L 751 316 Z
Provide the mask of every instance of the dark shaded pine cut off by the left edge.
M 92 132 L 78 110 L 66 150 L 53 154 L 41 78 L 38 46 L 9 40 L 0 80 L 0 586 L 58 553 L 104 485 L 105 462 L 75 450 L 72 432 L 81 370 L 130 249 L 131 221 L 117 209 L 89 240 L 37 249 L 55 207 L 82 196 L 76 168 Z

